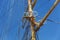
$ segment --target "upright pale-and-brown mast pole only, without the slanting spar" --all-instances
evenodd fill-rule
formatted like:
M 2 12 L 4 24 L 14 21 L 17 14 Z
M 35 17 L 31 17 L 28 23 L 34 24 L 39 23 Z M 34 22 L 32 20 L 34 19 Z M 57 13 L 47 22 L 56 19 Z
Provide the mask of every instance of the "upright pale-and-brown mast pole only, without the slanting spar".
M 34 24 L 33 24 L 33 21 L 34 21 L 34 18 L 33 18 L 33 15 L 32 15 L 32 5 L 31 5 L 32 1 L 31 0 L 28 0 L 28 12 L 29 12 L 29 17 L 31 17 L 29 20 L 31 22 L 31 32 L 32 32 L 32 39 L 31 40 L 36 40 L 35 39 L 35 30 L 34 30 Z

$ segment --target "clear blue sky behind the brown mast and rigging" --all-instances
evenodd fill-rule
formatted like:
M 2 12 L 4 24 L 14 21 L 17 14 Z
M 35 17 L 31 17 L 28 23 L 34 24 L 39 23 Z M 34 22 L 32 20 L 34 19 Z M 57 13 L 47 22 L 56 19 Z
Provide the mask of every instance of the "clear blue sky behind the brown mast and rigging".
M 34 11 L 44 17 L 55 0 L 37 0 Z M 0 40 L 18 40 L 20 27 L 20 40 L 24 33 L 21 28 L 21 19 L 24 14 L 24 0 L 0 0 Z M 48 17 L 60 22 L 60 3 Z M 39 19 L 39 18 L 37 18 Z M 38 31 L 40 40 L 60 40 L 60 24 L 47 21 Z

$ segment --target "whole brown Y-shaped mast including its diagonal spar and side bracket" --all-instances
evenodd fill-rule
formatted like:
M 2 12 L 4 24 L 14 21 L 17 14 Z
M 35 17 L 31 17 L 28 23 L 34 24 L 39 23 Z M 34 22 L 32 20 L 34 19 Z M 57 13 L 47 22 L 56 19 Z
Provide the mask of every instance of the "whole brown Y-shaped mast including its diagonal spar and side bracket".
M 31 24 L 31 40 L 36 40 L 36 32 L 40 29 L 40 27 L 43 25 L 43 23 L 46 21 L 47 17 L 51 14 L 51 12 L 54 10 L 56 5 L 60 2 L 60 0 L 56 0 L 52 8 L 48 11 L 48 13 L 44 16 L 44 18 L 41 20 L 40 23 L 35 22 L 34 16 L 33 16 L 33 7 L 36 3 L 36 0 L 34 0 L 34 3 L 32 3 L 32 0 L 28 0 L 28 16 L 25 16 L 30 24 Z M 36 28 L 35 28 L 36 26 Z

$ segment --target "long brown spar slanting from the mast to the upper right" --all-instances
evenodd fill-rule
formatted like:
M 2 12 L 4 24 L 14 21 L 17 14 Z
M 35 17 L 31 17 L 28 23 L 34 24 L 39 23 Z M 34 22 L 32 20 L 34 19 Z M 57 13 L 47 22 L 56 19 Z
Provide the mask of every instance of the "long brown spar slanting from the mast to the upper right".
M 43 25 L 43 23 L 46 21 L 46 19 L 48 18 L 48 16 L 51 14 L 51 12 L 54 10 L 54 8 L 57 6 L 57 4 L 59 3 L 60 0 L 56 0 L 54 5 L 52 6 L 52 8 L 48 11 L 48 13 L 44 16 L 44 18 L 40 21 L 40 23 L 38 23 L 35 31 L 38 31 L 40 29 L 40 27 Z

